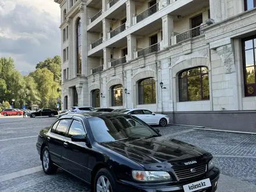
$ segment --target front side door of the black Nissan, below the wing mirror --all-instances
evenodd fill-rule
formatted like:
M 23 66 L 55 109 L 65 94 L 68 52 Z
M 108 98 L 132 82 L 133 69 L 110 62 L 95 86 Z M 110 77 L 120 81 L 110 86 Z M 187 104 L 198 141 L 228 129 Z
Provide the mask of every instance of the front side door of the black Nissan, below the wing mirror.
M 74 117 L 65 137 L 65 150 L 63 150 L 62 158 L 69 172 L 90 182 L 90 170 L 88 170 L 88 152 L 90 148 L 84 142 L 74 142 L 71 140 L 72 136 L 78 134 L 85 136 L 86 129 L 82 120 Z

